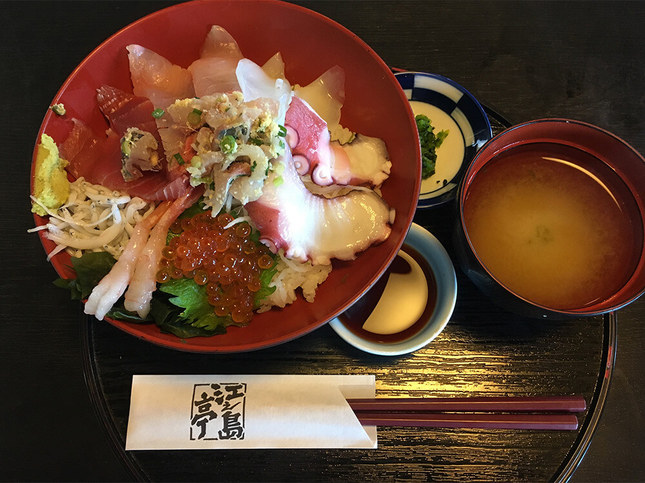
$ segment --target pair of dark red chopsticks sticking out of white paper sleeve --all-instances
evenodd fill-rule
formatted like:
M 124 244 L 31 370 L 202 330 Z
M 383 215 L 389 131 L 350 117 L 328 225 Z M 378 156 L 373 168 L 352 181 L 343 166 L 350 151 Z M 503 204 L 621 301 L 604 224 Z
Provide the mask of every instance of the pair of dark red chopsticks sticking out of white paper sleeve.
M 432 428 L 576 430 L 580 396 L 348 399 L 361 424 Z

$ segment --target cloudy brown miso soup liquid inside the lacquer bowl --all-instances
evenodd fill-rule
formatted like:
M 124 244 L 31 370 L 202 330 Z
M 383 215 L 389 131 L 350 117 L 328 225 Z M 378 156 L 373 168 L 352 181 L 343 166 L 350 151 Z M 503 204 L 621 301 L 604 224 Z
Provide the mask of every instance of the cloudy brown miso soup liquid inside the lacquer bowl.
M 472 180 L 463 214 L 481 263 L 515 294 L 556 310 L 607 299 L 634 270 L 643 228 L 622 180 L 566 145 L 511 148 Z M 636 218 L 634 218 L 636 219 Z

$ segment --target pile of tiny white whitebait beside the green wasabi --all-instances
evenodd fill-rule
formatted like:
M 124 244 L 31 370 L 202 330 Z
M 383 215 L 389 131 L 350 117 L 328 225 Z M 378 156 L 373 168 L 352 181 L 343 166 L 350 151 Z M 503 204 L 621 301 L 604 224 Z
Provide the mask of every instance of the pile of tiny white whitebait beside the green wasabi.
M 45 236 L 57 244 L 48 260 L 62 250 L 75 257 L 85 251 L 106 251 L 118 259 L 134 226 L 153 210 L 154 205 L 141 198 L 79 178 L 70 184 L 63 206 L 56 211 L 46 209 L 48 223 L 29 231 L 47 230 Z

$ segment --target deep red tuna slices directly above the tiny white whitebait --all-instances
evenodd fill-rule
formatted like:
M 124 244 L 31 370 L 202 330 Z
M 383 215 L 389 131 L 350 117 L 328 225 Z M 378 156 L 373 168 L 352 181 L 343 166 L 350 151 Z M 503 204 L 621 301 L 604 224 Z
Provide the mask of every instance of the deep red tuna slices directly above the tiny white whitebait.
M 169 180 L 166 173 L 146 172 L 133 181 L 121 175 L 121 140 L 111 129 L 107 137 L 97 136 L 85 123 L 74 119 L 67 139 L 60 146 L 61 156 L 69 162 L 67 171 L 74 178 L 138 196 L 148 201 L 173 200 L 190 191 L 187 176 Z

